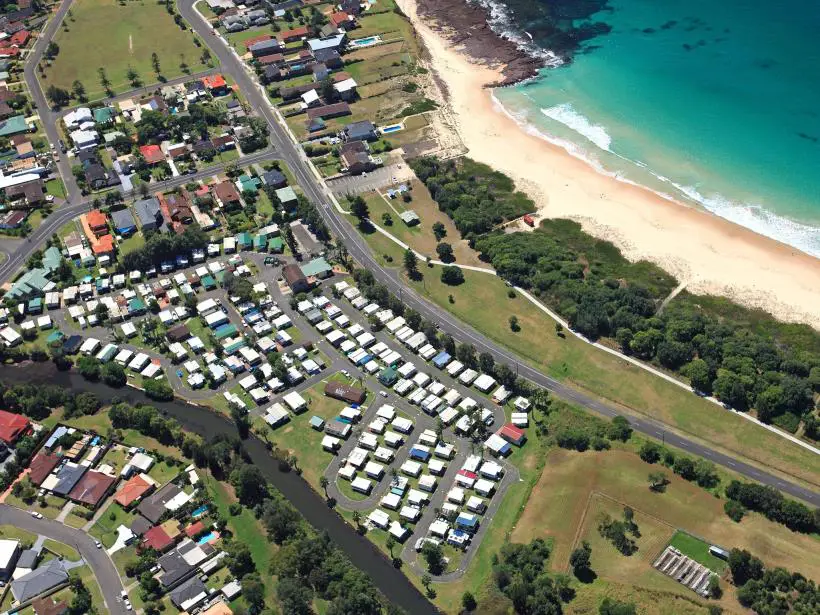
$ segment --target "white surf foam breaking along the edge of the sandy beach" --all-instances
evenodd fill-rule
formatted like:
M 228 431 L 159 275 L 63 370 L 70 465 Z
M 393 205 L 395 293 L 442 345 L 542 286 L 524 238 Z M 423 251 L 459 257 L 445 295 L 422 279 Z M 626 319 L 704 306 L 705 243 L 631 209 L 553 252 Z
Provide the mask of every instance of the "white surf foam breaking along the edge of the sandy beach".
M 570 155 L 586 162 L 602 175 L 606 175 L 626 184 L 645 188 L 666 200 L 697 203 L 710 213 L 720 216 L 734 224 L 743 226 L 755 233 L 785 243 L 811 256 L 820 258 L 820 228 L 778 215 L 760 204 L 741 203 L 722 195 L 704 195 L 694 187 L 678 184 L 669 177 L 653 171 L 643 161 L 631 160 L 617 152 L 613 152 L 611 149 L 612 139 L 605 128 L 590 122 L 588 118 L 572 109 L 572 106 L 568 103 L 556 105 L 555 107 L 550 107 L 550 109 L 541 109 L 541 112 L 550 119 L 560 122 L 577 134 L 582 135 L 586 140 L 594 143 L 599 149 L 621 160 L 634 164 L 642 171 L 651 173 L 660 182 L 670 186 L 670 188 L 672 188 L 672 194 L 634 181 L 628 178 L 623 171 L 607 169 L 589 150 L 573 141 L 547 134 L 533 125 L 529 121 L 526 111 L 522 110 L 518 113 L 514 113 L 505 107 L 495 94 L 492 94 L 492 99 L 496 108 L 514 120 L 522 130 L 561 147 Z

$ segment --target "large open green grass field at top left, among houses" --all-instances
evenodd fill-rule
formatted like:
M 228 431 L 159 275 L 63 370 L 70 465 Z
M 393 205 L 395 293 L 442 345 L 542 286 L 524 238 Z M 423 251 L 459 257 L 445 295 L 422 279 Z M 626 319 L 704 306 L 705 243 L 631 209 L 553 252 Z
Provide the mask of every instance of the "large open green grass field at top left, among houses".
M 120 5 L 114 0 L 77 0 L 72 16 L 66 17 L 54 41 L 60 53 L 41 77 L 43 85 L 71 90 L 75 80 L 95 100 L 105 96 L 99 68 L 104 68 L 114 92 L 132 89 L 126 73 L 133 68 L 145 84 L 157 82 L 151 54 L 159 58 L 160 72 L 166 79 L 183 74 L 181 63 L 190 72 L 203 70 L 202 48 L 194 45 L 193 35 L 174 23 L 165 7 L 146 0 L 129 0 Z M 65 31 L 65 27 L 68 31 Z

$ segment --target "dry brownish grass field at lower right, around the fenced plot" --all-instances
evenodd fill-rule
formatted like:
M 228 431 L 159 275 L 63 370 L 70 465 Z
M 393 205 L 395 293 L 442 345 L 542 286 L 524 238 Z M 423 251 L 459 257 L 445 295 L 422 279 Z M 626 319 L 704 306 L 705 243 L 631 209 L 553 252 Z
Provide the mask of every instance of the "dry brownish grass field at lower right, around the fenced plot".
M 820 560 L 814 555 L 820 545 L 817 537 L 791 532 L 754 513 L 734 523 L 723 512 L 720 499 L 671 472 L 667 472 L 671 482 L 666 492 L 653 493 L 647 481 L 652 468 L 628 451 L 551 452 L 512 540 L 550 538 L 554 544 L 550 565 L 554 570 L 566 571 L 583 524 L 595 516 L 591 502 L 602 500 L 614 502 L 618 511 L 624 505 L 631 506 L 647 519 L 647 533 L 650 520 L 666 528 L 663 532 L 653 530 L 663 534 L 663 540 L 645 549 L 652 550 L 652 556 L 657 556 L 675 531 L 682 529 L 724 548 L 750 549 L 768 566 L 799 570 L 811 578 L 820 575 Z M 640 521 L 638 525 L 644 533 Z M 593 546 L 593 563 L 594 554 Z M 599 576 L 606 576 L 603 569 L 593 569 Z

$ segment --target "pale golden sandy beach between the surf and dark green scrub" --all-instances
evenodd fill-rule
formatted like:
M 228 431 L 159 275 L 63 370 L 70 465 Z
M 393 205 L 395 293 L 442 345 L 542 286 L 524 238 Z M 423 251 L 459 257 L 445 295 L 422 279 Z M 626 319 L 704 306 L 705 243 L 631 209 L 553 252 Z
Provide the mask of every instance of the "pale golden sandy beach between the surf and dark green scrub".
M 781 320 L 820 329 L 820 260 L 708 212 L 598 173 L 586 162 L 528 134 L 494 103 L 485 86 L 498 67 L 471 61 L 424 23 L 415 0 L 397 0 L 447 87 L 448 113 L 468 155 L 510 175 L 539 215 L 571 218 L 647 259 L 695 293 L 723 295 Z

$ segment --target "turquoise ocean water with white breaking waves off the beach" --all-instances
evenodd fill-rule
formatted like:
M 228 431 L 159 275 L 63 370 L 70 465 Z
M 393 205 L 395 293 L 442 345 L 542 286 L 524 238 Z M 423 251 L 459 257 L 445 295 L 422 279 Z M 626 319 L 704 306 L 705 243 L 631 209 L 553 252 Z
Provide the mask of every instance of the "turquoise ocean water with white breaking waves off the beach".
M 820 257 L 820 3 L 494 6 L 497 29 L 541 49 L 556 28 L 600 30 L 571 62 L 495 91 L 519 121 L 604 172 Z

